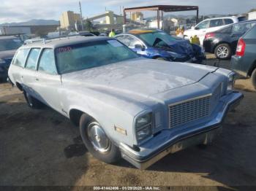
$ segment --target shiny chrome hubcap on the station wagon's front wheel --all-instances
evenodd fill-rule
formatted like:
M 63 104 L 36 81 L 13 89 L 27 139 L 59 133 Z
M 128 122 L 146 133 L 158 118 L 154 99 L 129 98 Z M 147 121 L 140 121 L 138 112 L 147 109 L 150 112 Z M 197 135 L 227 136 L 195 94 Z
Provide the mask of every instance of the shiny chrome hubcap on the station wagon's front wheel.
M 87 128 L 89 140 L 99 152 L 108 152 L 110 149 L 110 140 L 106 136 L 105 131 L 97 122 L 91 122 Z

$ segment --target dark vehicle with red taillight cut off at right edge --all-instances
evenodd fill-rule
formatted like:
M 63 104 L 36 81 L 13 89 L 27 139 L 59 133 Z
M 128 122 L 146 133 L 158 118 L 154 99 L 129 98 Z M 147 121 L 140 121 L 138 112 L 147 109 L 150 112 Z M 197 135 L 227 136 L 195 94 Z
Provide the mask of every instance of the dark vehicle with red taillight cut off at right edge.
M 252 78 L 256 89 L 256 25 L 242 36 L 232 56 L 231 69 L 244 77 Z

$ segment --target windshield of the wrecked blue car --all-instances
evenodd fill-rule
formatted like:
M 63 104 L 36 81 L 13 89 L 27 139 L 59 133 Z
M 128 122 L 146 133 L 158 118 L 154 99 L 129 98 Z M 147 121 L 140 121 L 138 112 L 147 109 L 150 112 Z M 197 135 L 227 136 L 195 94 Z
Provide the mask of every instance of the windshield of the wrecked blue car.
M 170 44 L 170 42 L 179 40 L 178 38 L 170 36 L 162 31 L 138 34 L 138 36 L 151 47 L 168 47 L 167 44 Z

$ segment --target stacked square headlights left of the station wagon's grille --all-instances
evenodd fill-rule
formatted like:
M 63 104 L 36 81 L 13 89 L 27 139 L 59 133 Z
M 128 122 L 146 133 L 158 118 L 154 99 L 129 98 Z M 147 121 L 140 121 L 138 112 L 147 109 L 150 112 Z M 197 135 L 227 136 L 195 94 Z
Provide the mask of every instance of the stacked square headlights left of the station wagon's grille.
M 138 141 L 151 136 L 152 113 L 143 114 L 136 119 L 135 130 Z

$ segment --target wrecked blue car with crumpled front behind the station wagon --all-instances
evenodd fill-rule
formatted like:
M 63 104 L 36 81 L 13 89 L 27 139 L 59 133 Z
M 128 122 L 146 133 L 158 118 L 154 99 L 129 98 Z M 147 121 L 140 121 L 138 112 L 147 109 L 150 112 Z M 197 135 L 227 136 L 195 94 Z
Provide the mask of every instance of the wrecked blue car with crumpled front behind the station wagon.
M 192 63 L 202 63 L 205 59 L 203 49 L 197 44 L 157 29 L 135 29 L 115 38 L 146 58 Z

